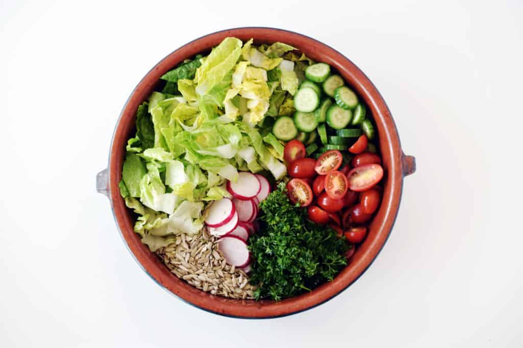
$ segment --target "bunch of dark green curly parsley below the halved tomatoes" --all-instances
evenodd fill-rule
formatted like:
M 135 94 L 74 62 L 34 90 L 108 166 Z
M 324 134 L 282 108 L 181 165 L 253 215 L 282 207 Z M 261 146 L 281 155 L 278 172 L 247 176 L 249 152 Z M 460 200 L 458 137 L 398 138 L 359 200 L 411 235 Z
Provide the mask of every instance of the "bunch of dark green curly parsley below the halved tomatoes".
M 345 238 L 310 222 L 306 208 L 289 202 L 285 183 L 280 182 L 259 208 L 259 232 L 248 239 L 256 299 L 278 301 L 311 291 L 332 281 L 347 264 Z

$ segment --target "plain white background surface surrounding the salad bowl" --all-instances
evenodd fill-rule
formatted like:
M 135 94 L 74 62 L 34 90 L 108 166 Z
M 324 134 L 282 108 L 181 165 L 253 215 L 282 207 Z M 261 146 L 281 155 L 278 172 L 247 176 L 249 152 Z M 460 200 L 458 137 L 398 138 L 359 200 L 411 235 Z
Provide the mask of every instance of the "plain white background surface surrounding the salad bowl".
M 522 4 L 0 1 L 0 346 L 523 346 Z M 417 159 L 371 268 L 281 319 L 219 317 L 164 291 L 95 192 L 142 76 L 240 26 L 347 55 Z

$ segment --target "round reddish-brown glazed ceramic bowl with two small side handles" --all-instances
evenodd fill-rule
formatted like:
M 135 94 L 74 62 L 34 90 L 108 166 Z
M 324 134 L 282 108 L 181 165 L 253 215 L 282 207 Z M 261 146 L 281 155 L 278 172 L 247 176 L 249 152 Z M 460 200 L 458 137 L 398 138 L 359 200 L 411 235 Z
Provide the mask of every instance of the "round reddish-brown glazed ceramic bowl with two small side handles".
M 385 170 L 384 192 L 383 202 L 370 225 L 367 238 L 334 281 L 325 283 L 310 293 L 279 302 L 226 299 L 204 293 L 179 280 L 154 253 L 149 251 L 147 246 L 140 242 L 139 235 L 133 232 L 135 217 L 126 207 L 118 189 L 125 146 L 128 138 L 135 132 L 134 117 L 140 103 L 151 94 L 158 79 L 165 72 L 188 57 L 208 52 L 226 37 L 236 37 L 243 41 L 254 38 L 255 44 L 285 42 L 315 61 L 330 64 L 358 96 L 365 100 L 377 125 Z M 216 314 L 239 318 L 274 318 L 294 314 L 324 303 L 346 289 L 365 272 L 389 237 L 400 206 L 403 178 L 414 170 L 414 158 L 403 154 L 396 126 L 385 101 L 367 76 L 343 54 L 324 43 L 291 31 L 273 28 L 237 28 L 215 32 L 187 43 L 166 56 L 145 75 L 123 107 L 111 143 L 109 166 L 98 174 L 97 188 L 99 192 L 108 195 L 120 233 L 134 258 L 158 284 L 184 301 Z

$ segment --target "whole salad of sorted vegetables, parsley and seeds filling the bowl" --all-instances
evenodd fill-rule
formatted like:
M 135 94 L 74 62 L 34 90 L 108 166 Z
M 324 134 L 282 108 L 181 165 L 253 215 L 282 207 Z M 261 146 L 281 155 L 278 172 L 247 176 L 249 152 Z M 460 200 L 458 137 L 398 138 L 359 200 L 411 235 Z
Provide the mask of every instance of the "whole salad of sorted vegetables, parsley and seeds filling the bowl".
M 332 281 L 366 237 L 383 177 L 344 79 L 288 44 L 226 38 L 161 80 L 119 183 L 141 241 L 216 295 L 280 300 Z

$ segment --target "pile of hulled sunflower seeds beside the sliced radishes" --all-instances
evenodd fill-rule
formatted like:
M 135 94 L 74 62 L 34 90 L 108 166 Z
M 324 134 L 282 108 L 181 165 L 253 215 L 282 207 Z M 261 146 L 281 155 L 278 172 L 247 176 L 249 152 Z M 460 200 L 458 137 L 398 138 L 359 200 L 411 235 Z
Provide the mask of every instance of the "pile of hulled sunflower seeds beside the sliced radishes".
M 219 239 L 206 228 L 197 235 L 182 234 L 156 254 L 180 279 L 213 295 L 253 299 L 255 286 L 249 284 L 244 271 L 225 262 L 218 250 Z

